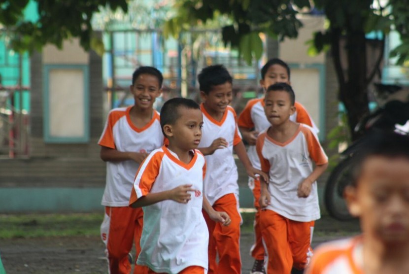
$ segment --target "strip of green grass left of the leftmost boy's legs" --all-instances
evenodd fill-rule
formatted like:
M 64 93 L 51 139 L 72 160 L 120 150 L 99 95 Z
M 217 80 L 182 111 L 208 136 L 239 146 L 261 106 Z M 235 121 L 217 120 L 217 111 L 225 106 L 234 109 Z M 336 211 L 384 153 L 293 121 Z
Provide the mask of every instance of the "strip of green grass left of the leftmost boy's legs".
M 103 213 L 0 215 L 0 239 L 98 236 Z

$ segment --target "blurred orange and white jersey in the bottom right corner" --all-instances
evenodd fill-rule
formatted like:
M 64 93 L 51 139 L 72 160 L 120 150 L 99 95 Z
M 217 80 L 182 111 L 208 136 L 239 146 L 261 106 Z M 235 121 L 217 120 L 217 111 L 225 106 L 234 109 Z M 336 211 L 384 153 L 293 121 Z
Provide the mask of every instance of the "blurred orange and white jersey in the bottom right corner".
M 362 238 L 324 243 L 314 251 L 306 274 L 364 274 Z

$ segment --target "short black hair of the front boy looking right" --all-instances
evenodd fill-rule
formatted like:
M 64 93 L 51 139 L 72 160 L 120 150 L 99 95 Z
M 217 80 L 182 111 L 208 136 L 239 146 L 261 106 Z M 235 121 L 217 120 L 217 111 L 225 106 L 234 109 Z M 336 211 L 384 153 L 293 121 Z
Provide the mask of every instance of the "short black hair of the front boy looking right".
M 161 128 L 165 137 L 166 135 L 163 127 L 165 125 L 174 125 L 176 123 L 177 119 L 180 117 L 180 107 L 200 110 L 199 104 L 192 99 L 176 97 L 166 101 L 161 108 Z

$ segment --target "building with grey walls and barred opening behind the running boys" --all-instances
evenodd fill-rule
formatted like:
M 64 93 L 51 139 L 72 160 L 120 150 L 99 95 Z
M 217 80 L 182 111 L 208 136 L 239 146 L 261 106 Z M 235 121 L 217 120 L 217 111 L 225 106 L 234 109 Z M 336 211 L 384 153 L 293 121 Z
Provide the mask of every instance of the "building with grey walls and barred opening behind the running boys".
M 48 45 L 30 57 L 14 54 L 15 79 L 4 82 L 0 70 L 0 213 L 102 210 L 105 163 L 97 142 L 109 109 L 133 103 L 131 75 L 141 65 L 155 66 L 165 76 L 164 94 L 156 105 L 160 109 L 174 96 L 197 99 L 197 71 L 224 64 L 234 76 L 232 104 L 239 112 L 260 95 L 262 64 L 279 57 L 290 65 L 297 101 L 319 127 L 325 147 L 327 133 L 338 124 L 338 83 L 329 54 L 307 54 L 306 41 L 324 28 L 324 17 L 305 16 L 302 21 L 297 39 L 278 43 L 263 37 L 265 56 L 251 66 L 223 47 L 218 30 L 201 31 L 202 41 L 185 34 L 183 45 L 164 41 L 159 30 L 105 32 L 103 56 L 85 52 L 76 39 L 66 41 L 62 50 Z M 0 50 L 6 57 L 0 61 L 12 55 L 4 46 Z M 247 176 L 240 177 L 241 206 L 252 207 Z

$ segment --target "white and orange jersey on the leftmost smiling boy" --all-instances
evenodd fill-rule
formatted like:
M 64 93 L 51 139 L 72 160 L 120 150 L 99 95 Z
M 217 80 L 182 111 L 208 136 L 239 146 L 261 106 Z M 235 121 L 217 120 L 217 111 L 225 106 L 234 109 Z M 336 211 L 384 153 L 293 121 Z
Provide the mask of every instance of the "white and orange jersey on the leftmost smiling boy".
M 132 106 L 109 111 L 98 144 L 118 151 L 151 152 L 164 143 L 159 113 L 153 112 L 150 122 L 136 128 L 129 111 Z M 106 162 L 106 185 L 102 196 L 103 206 L 128 206 L 139 164 L 133 160 Z

